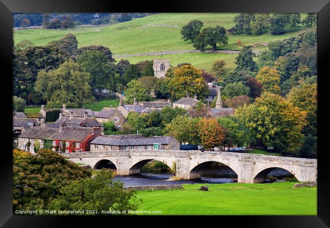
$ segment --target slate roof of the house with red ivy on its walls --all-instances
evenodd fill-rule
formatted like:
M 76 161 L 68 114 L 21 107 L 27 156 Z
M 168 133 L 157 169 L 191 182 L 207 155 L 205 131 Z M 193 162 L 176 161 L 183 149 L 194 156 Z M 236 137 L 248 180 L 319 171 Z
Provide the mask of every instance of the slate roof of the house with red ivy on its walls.
M 52 128 L 54 129 L 54 128 Z M 83 141 L 89 134 L 93 133 L 92 128 L 84 128 L 84 127 L 67 127 L 61 131 L 58 131 L 51 135 L 50 139 L 56 140 L 72 140 L 72 141 Z

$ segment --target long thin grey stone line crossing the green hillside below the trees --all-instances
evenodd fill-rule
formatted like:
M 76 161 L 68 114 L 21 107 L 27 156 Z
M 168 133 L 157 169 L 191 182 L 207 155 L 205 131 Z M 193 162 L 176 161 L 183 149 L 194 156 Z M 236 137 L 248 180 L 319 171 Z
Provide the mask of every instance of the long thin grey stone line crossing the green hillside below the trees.
M 184 50 L 184 51 L 164 51 L 164 52 L 148 52 L 148 53 L 137 53 L 137 54 L 126 54 L 126 55 L 113 55 L 113 57 L 132 57 L 132 56 L 149 56 L 149 55 L 167 55 L 167 54 L 180 54 L 180 53 L 199 53 L 200 50 Z M 240 51 L 233 50 L 205 50 L 204 53 L 225 53 L 225 54 L 238 54 Z M 261 51 L 252 51 L 256 55 L 259 55 Z

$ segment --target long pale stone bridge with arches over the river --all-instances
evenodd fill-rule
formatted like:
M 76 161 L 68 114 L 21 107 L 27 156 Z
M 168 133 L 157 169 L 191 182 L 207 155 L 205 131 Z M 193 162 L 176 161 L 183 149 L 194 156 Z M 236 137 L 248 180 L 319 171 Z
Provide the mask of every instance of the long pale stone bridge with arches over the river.
M 183 179 L 199 178 L 206 162 L 219 162 L 236 172 L 239 183 L 261 183 L 275 168 L 289 171 L 299 181 L 317 181 L 316 159 L 194 150 L 89 151 L 63 156 L 91 168 L 110 161 L 116 166 L 118 175 L 138 174 L 146 163 L 157 160 L 176 169 L 176 176 Z

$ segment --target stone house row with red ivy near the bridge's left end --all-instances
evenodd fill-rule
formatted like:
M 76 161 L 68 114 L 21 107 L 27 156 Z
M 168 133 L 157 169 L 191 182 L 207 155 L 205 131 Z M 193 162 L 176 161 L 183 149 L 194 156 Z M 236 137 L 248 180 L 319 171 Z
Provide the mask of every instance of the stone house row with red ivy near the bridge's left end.
M 37 139 L 40 148 L 44 147 L 45 140 L 50 140 L 54 151 L 56 149 L 62 153 L 89 151 L 90 142 L 100 135 L 100 128 L 72 127 L 65 123 L 60 124 L 59 128 L 33 127 L 18 136 L 18 148 L 32 153 Z M 30 143 L 29 148 L 27 142 Z

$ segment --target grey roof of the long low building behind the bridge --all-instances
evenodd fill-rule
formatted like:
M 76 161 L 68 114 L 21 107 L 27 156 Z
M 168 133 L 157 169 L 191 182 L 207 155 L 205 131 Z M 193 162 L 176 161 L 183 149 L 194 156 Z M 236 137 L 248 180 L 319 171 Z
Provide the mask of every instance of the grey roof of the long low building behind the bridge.
M 174 137 L 169 136 L 158 136 L 158 137 L 118 137 L 113 135 L 98 136 L 91 144 L 101 144 L 101 145 L 115 145 L 115 146 L 125 146 L 125 145 L 152 145 L 153 143 L 169 144 Z

